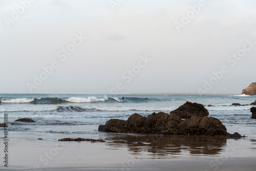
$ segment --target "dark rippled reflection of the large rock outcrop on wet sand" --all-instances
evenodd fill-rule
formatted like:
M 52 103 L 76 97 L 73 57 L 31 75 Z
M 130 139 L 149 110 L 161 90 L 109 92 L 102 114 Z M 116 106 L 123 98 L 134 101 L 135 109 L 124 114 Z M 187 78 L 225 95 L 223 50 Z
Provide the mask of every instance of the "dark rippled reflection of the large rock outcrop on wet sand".
M 112 135 L 105 137 L 111 149 L 127 147 L 131 155 L 150 158 L 218 156 L 227 146 L 224 136 Z

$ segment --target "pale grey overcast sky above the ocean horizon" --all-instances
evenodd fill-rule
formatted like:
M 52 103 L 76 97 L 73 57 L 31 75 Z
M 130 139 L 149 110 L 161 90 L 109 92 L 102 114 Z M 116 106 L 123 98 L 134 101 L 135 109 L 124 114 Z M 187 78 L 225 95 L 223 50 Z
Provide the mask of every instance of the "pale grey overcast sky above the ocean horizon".
M 0 93 L 240 94 L 253 42 L 255 0 L 1 0 Z

